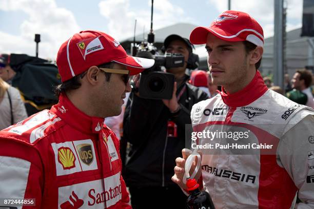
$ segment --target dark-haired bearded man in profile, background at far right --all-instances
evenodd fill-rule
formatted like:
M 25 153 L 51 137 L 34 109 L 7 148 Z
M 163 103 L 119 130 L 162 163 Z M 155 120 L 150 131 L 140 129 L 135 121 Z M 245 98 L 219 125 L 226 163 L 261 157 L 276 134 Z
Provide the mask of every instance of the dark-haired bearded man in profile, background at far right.
M 306 94 L 306 106 L 314 108 L 313 95 L 310 89 L 312 83 L 312 73 L 308 70 L 297 70 L 291 79 L 292 88 Z

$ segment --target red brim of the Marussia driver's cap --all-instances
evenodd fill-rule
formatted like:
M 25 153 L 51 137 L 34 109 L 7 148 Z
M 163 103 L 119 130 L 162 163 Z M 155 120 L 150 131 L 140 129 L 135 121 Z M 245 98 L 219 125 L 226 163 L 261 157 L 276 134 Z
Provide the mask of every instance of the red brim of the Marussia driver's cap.
M 197 27 L 190 34 L 192 44 L 206 44 L 208 33 L 226 41 L 243 41 L 242 38 L 228 33 L 220 28 Z

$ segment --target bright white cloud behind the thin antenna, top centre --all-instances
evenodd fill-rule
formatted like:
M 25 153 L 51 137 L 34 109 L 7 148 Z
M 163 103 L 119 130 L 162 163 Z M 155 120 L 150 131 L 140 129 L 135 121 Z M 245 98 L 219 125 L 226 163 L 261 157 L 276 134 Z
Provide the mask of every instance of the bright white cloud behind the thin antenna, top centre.
M 136 23 L 136 34 L 150 29 L 150 1 L 147 1 L 147 9 L 130 7 L 129 0 L 105 0 L 99 3 L 100 13 L 109 19 L 109 34 L 117 39 L 133 36 L 134 23 Z M 158 0 L 154 2 L 153 8 L 153 30 L 160 29 L 175 23 L 192 22 L 185 11 L 169 0 Z

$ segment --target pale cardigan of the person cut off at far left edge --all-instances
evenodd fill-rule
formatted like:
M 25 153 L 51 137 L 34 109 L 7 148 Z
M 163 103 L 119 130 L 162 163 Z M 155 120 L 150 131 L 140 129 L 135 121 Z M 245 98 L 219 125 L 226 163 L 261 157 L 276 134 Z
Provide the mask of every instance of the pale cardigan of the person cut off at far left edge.
M 0 77 L 0 130 L 25 118 L 27 113 L 19 91 Z

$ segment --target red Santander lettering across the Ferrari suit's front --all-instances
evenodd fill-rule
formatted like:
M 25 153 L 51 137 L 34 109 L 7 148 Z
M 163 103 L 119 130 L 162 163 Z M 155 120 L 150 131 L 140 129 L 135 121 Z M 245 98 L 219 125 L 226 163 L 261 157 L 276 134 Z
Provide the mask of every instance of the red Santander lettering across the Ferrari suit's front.
M 104 191 L 102 193 L 96 193 L 94 189 L 90 189 L 88 192 L 88 196 L 90 197 L 88 205 L 93 206 L 94 204 L 108 202 L 116 199 L 116 197 L 119 197 L 121 195 L 122 195 L 121 184 L 113 188 L 109 187 L 109 190 Z M 121 199 L 121 197 L 119 199 Z

